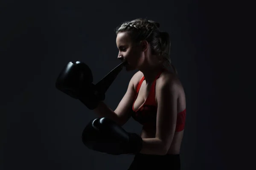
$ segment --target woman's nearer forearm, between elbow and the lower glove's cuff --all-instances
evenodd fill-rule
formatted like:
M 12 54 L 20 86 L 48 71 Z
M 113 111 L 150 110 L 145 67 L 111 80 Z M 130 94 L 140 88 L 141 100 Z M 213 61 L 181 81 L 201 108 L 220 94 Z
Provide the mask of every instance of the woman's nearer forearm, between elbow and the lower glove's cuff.
M 158 138 L 143 139 L 142 149 L 140 153 L 149 155 L 165 155 L 166 150 L 163 142 Z

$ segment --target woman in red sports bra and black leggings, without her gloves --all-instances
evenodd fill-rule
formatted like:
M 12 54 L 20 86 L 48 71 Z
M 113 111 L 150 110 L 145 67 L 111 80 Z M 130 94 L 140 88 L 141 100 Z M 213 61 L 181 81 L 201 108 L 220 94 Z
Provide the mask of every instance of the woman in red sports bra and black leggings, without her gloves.
M 118 59 L 127 61 L 127 71 L 139 71 L 131 78 L 115 111 L 104 102 L 94 109 L 100 117 L 108 117 L 120 126 L 130 117 L 143 125 L 143 147 L 130 170 L 149 167 L 180 170 L 186 99 L 169 58 L 169 34 L 161 32 L 159 27 L 154 21 L 136 19 L 117 28 Z

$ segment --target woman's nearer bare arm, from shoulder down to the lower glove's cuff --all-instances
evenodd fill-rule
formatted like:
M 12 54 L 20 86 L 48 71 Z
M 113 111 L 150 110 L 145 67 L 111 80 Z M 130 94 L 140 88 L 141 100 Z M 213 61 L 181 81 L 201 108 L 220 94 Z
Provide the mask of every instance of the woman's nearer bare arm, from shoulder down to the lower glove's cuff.
M 143 139 L 140 153 L 144 154 L 165 155 L 175 134 L 178 86 L 170 79 L 161 79 L 158 84 L 156 137 Z

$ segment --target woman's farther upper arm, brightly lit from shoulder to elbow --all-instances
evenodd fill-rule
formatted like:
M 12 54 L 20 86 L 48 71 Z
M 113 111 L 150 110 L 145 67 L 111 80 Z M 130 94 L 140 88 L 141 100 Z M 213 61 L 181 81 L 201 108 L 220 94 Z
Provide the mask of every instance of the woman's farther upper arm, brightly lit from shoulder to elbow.
M 137 94 L 135 91 L 135 84 L 138 81 L 139 76 L 139 72 L 137 72 L 131 78 L 125 95 L 123 96 L 122 100 L 119 102 L 116 110 L 114 111 L 119 117 L 122 125 L 125 124 L 131 117 L 132 105 Z

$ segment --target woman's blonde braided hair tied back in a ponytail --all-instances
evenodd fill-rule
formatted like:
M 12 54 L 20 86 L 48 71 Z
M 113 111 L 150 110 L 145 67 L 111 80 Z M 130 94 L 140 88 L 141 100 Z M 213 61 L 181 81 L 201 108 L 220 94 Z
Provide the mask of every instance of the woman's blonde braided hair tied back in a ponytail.
M 160 24 L 155 21 L 138 18 L 123 22 L 115 31 L 116 35 L 119 32 L 127 32 L 135 43 L 146 40 L 151 45 L 151 53 L 163 57 L 163 67 L 169 69 L 171 66 L 177 75 L 177 70 L 170 58 L 170 36 L 167 32 L 160 31 L 159 27 Z

